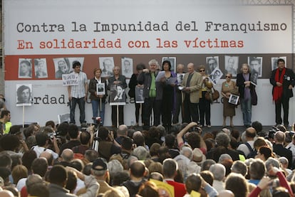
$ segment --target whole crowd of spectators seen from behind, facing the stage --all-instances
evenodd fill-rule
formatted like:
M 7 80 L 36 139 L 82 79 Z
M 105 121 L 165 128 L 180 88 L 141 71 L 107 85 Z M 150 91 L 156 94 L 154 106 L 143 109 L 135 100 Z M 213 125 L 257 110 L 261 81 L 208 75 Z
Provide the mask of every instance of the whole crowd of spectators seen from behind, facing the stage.
M 294 131 L 199 126 L 12 125 L 0 138 L 0 196 L 294 196 Z

